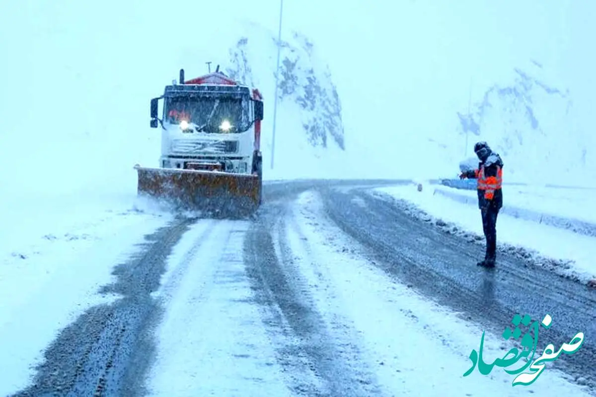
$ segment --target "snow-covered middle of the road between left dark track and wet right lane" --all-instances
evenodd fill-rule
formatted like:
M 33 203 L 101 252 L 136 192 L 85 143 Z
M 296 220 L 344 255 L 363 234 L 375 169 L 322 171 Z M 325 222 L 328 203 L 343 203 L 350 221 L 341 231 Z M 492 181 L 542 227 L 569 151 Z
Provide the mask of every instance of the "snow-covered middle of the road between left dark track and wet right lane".
M 587 395 L 553 370 L 525 389 L 462 377 L 483 329 L 376 267 L 313 191 L 254 224 L 197 224 L 157 295 L 151 395 Z M 510 347 L 485 339 L 491 357 Z

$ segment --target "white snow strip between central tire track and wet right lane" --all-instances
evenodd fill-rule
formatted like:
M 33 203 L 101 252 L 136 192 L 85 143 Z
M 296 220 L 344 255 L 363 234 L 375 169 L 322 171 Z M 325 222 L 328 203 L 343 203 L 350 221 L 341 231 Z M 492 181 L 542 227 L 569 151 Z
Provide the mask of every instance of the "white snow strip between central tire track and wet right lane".
M 310 290 L 325 321 L 353 324 L 356 336 L 346 337 L 361 343 L 362 357 L 388 395 L 589 395 L 548 364 L 530 386 L 512 387 L 515 376 L 497 368 L 489 376 L 475 369 L 463 377 L 483 329 L 395 282 L 368 262 L 358 243 L 328 220 L 314 193 L 303 193 L 296 204 L 296 221 L 287 230 L 297 254 L 294 262 L 309 285 L 315 286 Z M 346 326 L 338 328 L 347 333 Z M 500 335 L 486 332 L 483 354 L 487 362 L 502 357 L 510 347 Z

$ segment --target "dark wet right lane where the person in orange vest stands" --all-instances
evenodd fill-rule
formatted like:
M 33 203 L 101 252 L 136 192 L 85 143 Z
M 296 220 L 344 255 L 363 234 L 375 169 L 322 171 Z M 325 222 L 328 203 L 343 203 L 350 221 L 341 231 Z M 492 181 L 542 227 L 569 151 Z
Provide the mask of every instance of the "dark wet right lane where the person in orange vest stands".
M 558 277 L 548 270 L 526 266 L 512 255 L 500 254 L 494 270 L 478 268 L 483 247 L 452 231 L 425 224 L 401 201 L 375 198 L 362 189 L 340 192 L 321 189 L 326 212 L 343 232 L 366 246 L 367 257 L 386 273 L 445 307 L 477 321 L 496 335 L 516 312 L 558 319 L 556 326 L 541 330 L 541 339 L 560 346 L 581 330 L 582 348 L 552 363 L 596 390 L 596 296 L 585 286 Z M 353 204 L 363 199 L 366 206 Z M 537 354 L 541 354 L 540 351 Z

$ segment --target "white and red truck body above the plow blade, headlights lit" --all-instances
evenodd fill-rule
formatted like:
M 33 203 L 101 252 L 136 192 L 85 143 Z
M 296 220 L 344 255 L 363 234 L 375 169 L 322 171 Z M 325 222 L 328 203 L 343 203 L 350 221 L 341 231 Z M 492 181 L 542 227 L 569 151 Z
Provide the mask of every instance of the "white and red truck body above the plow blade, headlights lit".
M 162 117 L 159 101 L 163 99 Z M 260 123 L 263 101 L 257 89 L 218 69 L 184 80 L 151 99 L 151 127 L 162 127 L 160 168 L 262 176 Z

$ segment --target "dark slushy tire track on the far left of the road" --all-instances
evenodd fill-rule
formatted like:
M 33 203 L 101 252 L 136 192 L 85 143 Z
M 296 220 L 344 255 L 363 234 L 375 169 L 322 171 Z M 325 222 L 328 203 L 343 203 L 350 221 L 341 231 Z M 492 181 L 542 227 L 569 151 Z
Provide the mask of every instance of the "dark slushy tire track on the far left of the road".
M 142 394 L 153 341 L 148 329 L 157 310 L 157 290 L 166 258 L 194 220 L 181 219 L 145 237 L 147 248 L 118 265 L 105 293 L 122 298 L 90 308 L 46 349 L 32 385 L 15 397 Z

